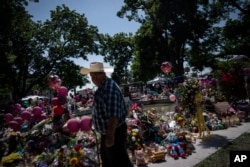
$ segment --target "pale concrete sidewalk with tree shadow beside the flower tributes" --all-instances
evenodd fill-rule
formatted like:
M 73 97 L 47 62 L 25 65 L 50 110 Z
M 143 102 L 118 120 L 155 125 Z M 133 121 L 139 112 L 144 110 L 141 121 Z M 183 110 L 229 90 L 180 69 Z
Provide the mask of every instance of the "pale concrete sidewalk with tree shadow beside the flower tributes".
M 196 140 L 196 143 L 194 144 L 196 152 L 188 156 L 186 159 L 179 158 L 174 160 L 169 155 L 166 155 L 166 162 L 150 163 L 148 167 L 192 167 L 206 159 L 209 155 L 215 153 L 228 142 L 239 137 L 244 132 L 250 132 L 250 122 L 245 122 L 236 127 L 230 127 L 224 130 L 211 131 L 211 135 L 207 140 Z

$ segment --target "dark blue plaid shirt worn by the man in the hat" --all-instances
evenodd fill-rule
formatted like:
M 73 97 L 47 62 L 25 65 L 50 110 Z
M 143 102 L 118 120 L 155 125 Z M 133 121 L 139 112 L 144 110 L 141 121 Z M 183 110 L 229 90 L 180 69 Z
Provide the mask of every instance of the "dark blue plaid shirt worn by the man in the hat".
M 95 130 L 105 133 L 110 117 L 116 117 L 119 126 L 125 122 L 127 113 L 120 88 L 112 79 L 106 78 L 94 95 L 92 117 Z

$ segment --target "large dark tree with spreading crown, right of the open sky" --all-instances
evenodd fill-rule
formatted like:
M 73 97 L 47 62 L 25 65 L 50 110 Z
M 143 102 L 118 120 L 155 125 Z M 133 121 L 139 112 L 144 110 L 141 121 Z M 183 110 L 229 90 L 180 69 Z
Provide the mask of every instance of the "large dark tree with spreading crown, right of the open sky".
M 135 34 L 134 60 L 139 62 L 133 62 L 133 70 L 138 79 L 159 74 L 163 61 L 172 63 L 176 76 L 183 75 L 187 49 L 201 45 L 221 18 L 214 5 L 196 0 L 126 0 L 117 15 L 142 24 Z

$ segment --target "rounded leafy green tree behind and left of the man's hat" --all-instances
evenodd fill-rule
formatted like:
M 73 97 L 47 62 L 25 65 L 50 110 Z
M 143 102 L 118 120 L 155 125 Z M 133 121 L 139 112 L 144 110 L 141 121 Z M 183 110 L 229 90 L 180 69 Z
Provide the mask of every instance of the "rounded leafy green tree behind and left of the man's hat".
M 65 5 L 51 11 L 51 20 L 39 25 L 40 42 L 50 73 L 60 75 L 68 88 L 83 86 L 86 77 L 73 59 L 88 60 L 88 54 L 98 53 L 99 34 L 95 26 L 88 25 L 86 17 L 71 11 Z

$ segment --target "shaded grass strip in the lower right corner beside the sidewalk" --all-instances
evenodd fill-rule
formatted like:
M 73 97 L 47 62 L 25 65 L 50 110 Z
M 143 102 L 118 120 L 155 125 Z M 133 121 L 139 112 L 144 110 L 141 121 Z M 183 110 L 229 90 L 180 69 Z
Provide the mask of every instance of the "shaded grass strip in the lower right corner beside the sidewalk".
M 230 151 L 250 151 L 250 133 L 243 133 L 194 167 L 229 167 Z

